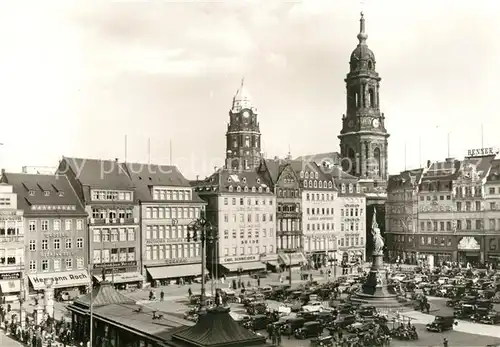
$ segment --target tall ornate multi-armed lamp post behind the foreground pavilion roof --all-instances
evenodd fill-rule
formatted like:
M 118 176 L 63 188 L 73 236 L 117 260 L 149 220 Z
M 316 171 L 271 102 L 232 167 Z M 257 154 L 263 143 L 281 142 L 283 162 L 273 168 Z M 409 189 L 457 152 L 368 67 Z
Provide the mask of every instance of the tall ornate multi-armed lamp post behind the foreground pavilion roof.
M 219 238 L 217 228 L 208 221 L 205 216 L 193 220 L 187 226 L 187 241 L 201 242 L 201 297 L 200 309 L 205 308 L 205 268 L 206 268 L 206 255 L 205 248 L 207 242 L 217 245 Z M 218 262 L 217 262 L 218 263 Z

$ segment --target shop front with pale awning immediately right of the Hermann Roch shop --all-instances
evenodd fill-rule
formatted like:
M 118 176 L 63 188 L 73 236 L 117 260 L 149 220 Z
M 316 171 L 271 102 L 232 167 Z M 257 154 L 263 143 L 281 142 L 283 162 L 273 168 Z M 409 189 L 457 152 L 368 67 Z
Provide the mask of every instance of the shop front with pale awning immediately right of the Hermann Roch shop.
M 111 281 L 119 289 L 141 288 L 144 277 L 137 271 L 137 261 L 94 264 L 92 275 L 97 282 Z

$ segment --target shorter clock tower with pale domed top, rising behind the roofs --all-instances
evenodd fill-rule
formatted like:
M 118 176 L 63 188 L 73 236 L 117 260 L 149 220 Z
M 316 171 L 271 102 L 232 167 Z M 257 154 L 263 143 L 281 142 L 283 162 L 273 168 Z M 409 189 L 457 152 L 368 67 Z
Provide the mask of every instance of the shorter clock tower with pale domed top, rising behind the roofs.
M 244 86 L 244 80 L 233 98 L 226 132 L 226 167 L 253 170 L 260 164 L 260 127 L 257 108 Z

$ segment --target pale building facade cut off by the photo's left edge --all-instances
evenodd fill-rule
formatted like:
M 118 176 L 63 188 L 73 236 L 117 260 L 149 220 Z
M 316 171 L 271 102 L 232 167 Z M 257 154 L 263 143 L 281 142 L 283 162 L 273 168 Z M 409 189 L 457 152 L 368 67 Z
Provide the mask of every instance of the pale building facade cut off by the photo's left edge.
M 16 301 L 26 288 L 24 211 L 13 186 L 0 183 L 0 300 Z

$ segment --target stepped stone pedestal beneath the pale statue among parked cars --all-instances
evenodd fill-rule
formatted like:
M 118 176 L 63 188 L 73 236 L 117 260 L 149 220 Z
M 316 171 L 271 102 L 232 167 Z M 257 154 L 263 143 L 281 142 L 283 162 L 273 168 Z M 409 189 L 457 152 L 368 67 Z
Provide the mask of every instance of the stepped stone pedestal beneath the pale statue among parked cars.
M 372 267 L 361 290 L 351 297 L 353 303 L 375 306 L 377 309 L 390 309 L 405 306 L 407 302 L 400 300 L 387 286 L 388 274 L 384 268 L 383 254 L 374 254 Z

